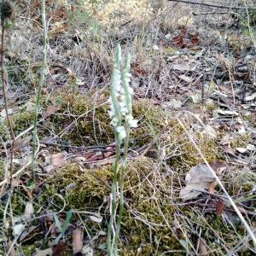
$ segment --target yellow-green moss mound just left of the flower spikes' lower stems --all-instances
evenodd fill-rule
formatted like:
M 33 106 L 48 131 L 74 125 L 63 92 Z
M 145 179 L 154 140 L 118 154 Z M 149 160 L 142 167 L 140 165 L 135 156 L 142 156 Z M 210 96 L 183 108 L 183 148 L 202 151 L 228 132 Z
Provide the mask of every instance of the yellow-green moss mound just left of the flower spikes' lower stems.
M 67 207 L 84 209 L 84 206 L 99 207 L 104 195 L 110 193 L 109 182 L 112 177 L 111 166 L 95 170 L 86 169 L 81 173 L 79 165 L 67 166 L 49 178 L 40 202 L 49 201 L 56 193 L 64 196 Z M 62 204 L 55 197 L 55 203 Z

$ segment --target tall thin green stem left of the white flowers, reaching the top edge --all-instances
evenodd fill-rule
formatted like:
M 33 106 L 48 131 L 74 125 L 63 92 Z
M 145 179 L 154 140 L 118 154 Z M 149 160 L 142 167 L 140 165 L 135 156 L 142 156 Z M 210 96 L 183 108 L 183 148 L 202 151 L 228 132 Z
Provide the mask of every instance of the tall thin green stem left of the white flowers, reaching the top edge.
M 42 58 L 42 70 L 40 75 L 40 80 L 38 84 L 37 90 L 37 99 L 35 104 L 35 113 L 34 113 L 34 121 L 33 121 L 33 143 L 32 143 L 32 164 L 31 164 L 31 182 L 34 183 L 35 180 L 35 158 L 36 158 L 36 143 L 38 136 L 38 108 L 39 108 L 39 100 L 41 96 L 41 90 L 44 84 L 44 76 L 45 76 L 45 68 L 46 68 L 46 54 L 47 54 L 47 27 L 46 27 L 46 17 L 45 17 L 45 0 L 41 0 L 41 12 L 42 12 L 42 24 L 43 24 L 43 58 Z

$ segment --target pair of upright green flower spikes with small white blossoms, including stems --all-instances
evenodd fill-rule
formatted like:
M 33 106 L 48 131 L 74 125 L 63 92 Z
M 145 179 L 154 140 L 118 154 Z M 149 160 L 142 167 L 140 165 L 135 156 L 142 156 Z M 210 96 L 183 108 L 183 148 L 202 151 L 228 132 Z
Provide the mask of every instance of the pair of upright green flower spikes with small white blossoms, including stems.
M 112 193 L 110 195 L 110 219 L 108 224 L 108 255 L 117 255 L 117 246 L 119 240 L 119 230 L 121 218 L 124 211 L 124 177 L 127 163 L 127 154 L 129 148 L 129 137 L 131 127 L 137 127 L 137 120 L 132 117 L 130 83 L 130 64 L 131 56 L 125 57 L 125 64 L 122 67 L 121 47 L 115 49 L 113 57 L 113 72 L 110 82 L 110 111 L 109 116 L 111 125 L 113 125 L 116 157 L 113 163 L 113 182 Z M 121 145 L 125 139 L 124 154 L 121 158 Z M 121 165 L 119 166 L 119 160 Z M 120 170 L 120 171 L 119 171 Z M 119 217 L 117 218 L 117 209 L 119 207 Z

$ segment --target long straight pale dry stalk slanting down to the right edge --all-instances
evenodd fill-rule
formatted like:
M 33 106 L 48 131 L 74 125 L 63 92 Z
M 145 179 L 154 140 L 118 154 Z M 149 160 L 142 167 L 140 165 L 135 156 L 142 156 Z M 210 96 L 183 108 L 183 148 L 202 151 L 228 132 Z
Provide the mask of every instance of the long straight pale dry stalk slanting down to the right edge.
M 241 212 L 239 211 L 238 207 L 236 207 L 235 202 L 232 200 L 232 198 L 230 197 L 228 191 L 224 188 L 223 183 L 221 183 L 220 179 L 218 178 L 218 176 L 216 175 L 216 173 L 212 170 L 212 167 L 209 165 L 209 163 L 207 162 L 206 158 L 204 157 L 204 155 L 201 153 L 201 149 L 198 148 L 198 146 L 196 145 L 193 137 L 191 137 L 191 135 L 189 134 L 189 131 L 186 129 L 186 127 L 183 125 L 183 122 L 177 117 L 177 122 L 179 123 L 179 125 L 181 125 L 181 127 L 183 128 L 183 130 L 185 131 L 185 133 L 187 134 L 187 136 L 189 137 L 189 141 L 194 145 L 195 149 L 197 150 L 197 152 L 200 154 L 201 159 L 205 162 L 205 164 L 207 165 L 207 167 L 209 168 L 209 170 L 212 172 L 213 177 L 217 180 L 218 185 L 220 186 L 220 188 L 224 191 L 224 194 L 227 196 L 227 199 L 230 201 L 230 205 L 234 208 L 236 214 L 238 215 L 238 217 L 240 218 L 241 222 L 244 224 L 248 235 L 251 236 L 252 240 L 253 240 L 253 245 L 254 247 L 256 247 L 256 236 L 253 233 L 253 230 L 251 229 L 251 227 L 249 226 L 249 224 L 247 224 L 247 221 L 245 218 L 243 218 L 243 216 L 241 215 Z

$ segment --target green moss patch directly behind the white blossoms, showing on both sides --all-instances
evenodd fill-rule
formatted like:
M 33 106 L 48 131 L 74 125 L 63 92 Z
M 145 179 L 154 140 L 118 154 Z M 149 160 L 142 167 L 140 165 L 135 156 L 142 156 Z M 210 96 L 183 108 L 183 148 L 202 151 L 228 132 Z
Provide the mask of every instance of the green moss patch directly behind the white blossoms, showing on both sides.
M 56 93 L 52 96 L 51 102 L 55 102 L 55 99 L 59 96 L 61 96 L 61 93 Z M 109 106 L 108 104 L 100 105 L 107 101 L 108 93 L 103 91 L 96 102 L 91 101 L 92 97 L 91 95 L 79 96 L 75 94 L 61 96 L 60 113 L 65 113 L 68 109 L 68 112 L 72 115 L 84 114 L 83 117 L 77 120 L 72 132 L 68 132 L 62 137 L 64 140 L 74 145 L 113 143 L 113 127 L 110 125 L 108 115 Z M 58 134 L 73 121 L 72 115 L 55 115 L 49 118 L 44 125 Z M 165 114 L 148 100 L 139 100 L 133 104 L 133 115 L 139 120 L 139 127 L 131 131 L 131 146 L 141 147 L 145 143 L 149 143 L 160 132 Z M 46 129 L 46 132 L 48 129 Z

